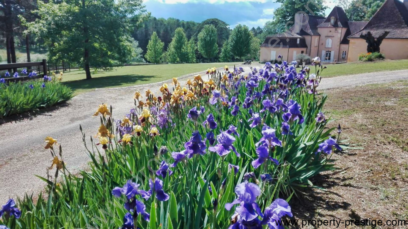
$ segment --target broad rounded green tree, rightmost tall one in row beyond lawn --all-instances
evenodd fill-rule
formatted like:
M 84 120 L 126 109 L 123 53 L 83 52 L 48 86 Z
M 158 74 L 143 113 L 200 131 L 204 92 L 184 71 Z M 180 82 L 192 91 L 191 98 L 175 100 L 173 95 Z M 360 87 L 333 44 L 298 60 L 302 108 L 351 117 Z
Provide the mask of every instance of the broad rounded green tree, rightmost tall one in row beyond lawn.
M 235 26 L 229 38 L 233 56 L 242 59 L 250 54 L 252 38 L 253 34 L 246 25 Z

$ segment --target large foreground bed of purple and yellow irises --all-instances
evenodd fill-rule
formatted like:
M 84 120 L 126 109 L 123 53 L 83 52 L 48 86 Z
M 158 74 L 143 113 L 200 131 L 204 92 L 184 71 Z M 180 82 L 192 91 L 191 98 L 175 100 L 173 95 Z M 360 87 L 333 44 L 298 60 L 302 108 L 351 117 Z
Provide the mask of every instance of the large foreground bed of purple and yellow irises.
M 101 104 L 96 135 L 83 133 L 90 169 L 71 174 L 47 137 L 47 196 L 18 200 L 21 217 L 0 225 L 282 228 L 276 220 L 296 211 L 293 193 L 333 170 L 330 155 L 344 147 L 340 128 L 334 136 L 325 129 L 323 67 L 318 58 L 313 64 L 300 72 L 286 62 L 213 68 L 185 85 L 174 78 L 159 95 L 136 92 L 135 108 L 117 120 Z

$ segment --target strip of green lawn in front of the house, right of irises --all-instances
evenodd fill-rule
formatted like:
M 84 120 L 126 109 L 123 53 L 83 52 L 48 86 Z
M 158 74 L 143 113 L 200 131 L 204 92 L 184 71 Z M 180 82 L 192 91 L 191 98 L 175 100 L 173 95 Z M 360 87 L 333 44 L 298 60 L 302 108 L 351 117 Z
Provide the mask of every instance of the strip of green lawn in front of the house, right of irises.
M 393 71 L 408 69 L 408 60 L 381 60 L 376 62 L 351 62 L 345 64 L 326 64 L 323 77 L 346 76 L 375 71 Z M 311 72 L 314 67 L 310 66 Z

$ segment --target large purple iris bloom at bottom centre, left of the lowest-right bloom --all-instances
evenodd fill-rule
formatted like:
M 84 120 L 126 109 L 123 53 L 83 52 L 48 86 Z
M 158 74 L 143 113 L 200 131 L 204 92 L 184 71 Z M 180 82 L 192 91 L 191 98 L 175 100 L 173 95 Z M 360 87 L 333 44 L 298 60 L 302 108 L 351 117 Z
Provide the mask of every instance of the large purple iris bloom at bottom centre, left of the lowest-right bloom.
M 256 202 L 257 196 L 261 195 L 261 189 L 254 183 L 248 183 L 248 181 L 242 182 L 235 187 L 235 193 L 237 199 L 232 203 L 226 203 L 225 209 L 230 211 L 233 205 L 239 204 L 235 208 L 235 212 L 241 217 L 242 220 L 251 221 L 258 216 L 263 217 L 261 209 Z

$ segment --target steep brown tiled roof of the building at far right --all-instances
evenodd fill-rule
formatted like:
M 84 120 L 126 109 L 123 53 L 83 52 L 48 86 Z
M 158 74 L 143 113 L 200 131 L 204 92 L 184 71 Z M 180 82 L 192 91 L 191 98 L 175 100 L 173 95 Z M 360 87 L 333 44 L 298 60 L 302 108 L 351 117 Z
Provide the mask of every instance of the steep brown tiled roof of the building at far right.
M 399 0 L 386 0 L 363 29 L 349 38 L 359 38 L 361 32 L 366 34 L 368 31 L 375 38 L 384 31 L 390 32 L 386 38 L 408 38 L 408 9 Z

